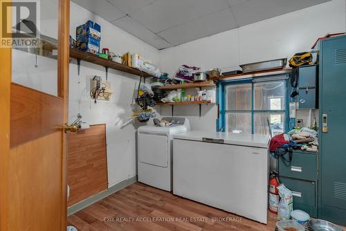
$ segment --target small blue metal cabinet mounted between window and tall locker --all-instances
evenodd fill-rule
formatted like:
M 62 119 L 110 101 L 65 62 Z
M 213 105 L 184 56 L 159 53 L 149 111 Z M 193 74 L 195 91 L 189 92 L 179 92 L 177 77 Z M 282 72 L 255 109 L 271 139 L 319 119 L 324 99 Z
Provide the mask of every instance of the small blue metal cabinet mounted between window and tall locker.
M 300 66 L 299 76 L 299 109 L 318 108 L 318 68 L 316 65 Z

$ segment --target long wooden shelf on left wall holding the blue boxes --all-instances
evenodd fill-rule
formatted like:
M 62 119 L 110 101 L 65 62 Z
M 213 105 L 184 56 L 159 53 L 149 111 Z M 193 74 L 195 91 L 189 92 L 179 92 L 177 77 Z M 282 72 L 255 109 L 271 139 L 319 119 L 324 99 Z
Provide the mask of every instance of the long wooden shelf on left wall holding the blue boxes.
M 98 55 L 94 55 L 91 53 L 84 52 L 82 50 L 78 50 L 76 48 L 70 48 L 70 57 L 74 57 L 75 59 L 84 60 L 86 62 L 91 62 L 93 64 L 98 64 L 100 66 L 104 66 L 105 68 L 112 68 L 118 71 L 123 71 L 126 73 L 130 73 L 133 75 L 142 75 L 143 77 L 151 77 L 148 73 L 143 71 L 139 71 L 136 68 L 131 66 L 126 66 L 123 64 L 119 64 L 117 62 L 113 62 L 109 59 L 104 59 L 102 57 L 98 57 Z

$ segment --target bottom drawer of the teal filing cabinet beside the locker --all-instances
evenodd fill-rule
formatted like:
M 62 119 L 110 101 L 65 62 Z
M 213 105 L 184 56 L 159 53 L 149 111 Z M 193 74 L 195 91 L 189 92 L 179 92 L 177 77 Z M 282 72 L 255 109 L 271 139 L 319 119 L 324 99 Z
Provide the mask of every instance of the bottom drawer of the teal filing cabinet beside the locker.
M 305 212 L 316 212 L 316 183 L 314 181 L 300 181 L 292 178 L 280 177 L 283 183 L 293 194 L 293 209 L 302 209 Z

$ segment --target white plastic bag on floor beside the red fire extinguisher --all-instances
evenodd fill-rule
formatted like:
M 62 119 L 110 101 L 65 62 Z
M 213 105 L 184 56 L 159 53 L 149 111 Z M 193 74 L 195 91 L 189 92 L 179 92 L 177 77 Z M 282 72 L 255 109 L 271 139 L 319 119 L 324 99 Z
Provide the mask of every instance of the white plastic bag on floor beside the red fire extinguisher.
M 281 198 L 277 208 L 277 220 L 288 220 L 291 218 L 291 211 L 293 210 L 292 192 L 284 184 L 278 186 L 277 190 L 279 190 Z

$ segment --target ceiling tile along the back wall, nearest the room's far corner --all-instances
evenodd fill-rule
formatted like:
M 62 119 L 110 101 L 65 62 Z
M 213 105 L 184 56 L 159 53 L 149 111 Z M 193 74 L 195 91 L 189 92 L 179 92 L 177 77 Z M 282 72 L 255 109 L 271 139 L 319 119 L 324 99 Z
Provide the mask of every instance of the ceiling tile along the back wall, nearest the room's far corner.
M 199 19 L 189 21 L 187 24 L 175 26 L 158 33 L 158 35 L 170 41 L 171 44 L 179 45 L 233 28 L 237 28 L 237 23 L 232 12 L 230 12 L 230 8 L 226 8 L 213 14 L 200 17 Z

